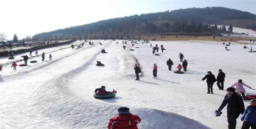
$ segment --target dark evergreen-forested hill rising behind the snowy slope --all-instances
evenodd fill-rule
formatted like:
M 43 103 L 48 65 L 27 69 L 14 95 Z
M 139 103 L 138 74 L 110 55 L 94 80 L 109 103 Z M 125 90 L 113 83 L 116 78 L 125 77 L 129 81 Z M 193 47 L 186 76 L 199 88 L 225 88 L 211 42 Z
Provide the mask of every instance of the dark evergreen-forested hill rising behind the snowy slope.
M 39 33 L 36 39 L 55 37 L 56 35 L 106 35 L 106 34 L 145 34 L 145 33 L 215 33 L 214 20 L 246 19 L 256 20 L 256 15 L 223 7 L 188 8 L 166 12 L 141 14 L 102 20 L 85 25 Z

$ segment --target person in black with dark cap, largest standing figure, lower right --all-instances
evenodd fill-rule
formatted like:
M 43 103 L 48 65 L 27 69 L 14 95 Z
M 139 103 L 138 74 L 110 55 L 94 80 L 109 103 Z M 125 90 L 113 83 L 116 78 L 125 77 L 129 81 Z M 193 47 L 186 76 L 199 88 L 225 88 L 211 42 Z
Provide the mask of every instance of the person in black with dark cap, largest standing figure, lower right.
M 228 129 L 236 129 L 236 119 L 244 110 L 244 102 L 240 94 L 235 92 L 235 88 L 227 88 L 228 94 L 224 97 L 218 112 L 220 112 L 227 104 Z

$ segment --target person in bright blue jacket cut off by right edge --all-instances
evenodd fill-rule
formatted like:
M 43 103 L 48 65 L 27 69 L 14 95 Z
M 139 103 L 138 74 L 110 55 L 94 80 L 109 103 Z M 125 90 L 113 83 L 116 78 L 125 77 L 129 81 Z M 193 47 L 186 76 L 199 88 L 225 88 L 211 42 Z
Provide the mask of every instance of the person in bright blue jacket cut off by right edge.
M 244 121 L 241 129 L 256 129 L 256 99 L 251 100 L 251 105 L 246 108 L 241 120 Z

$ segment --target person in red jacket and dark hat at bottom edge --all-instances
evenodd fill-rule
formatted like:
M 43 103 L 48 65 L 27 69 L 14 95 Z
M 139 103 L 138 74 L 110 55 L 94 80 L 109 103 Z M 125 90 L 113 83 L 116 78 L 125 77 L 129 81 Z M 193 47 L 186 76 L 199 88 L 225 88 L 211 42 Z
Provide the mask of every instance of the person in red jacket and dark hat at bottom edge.
M 138 115 L 133 115 L 126 107 L 120 107 L 117 111 L 118 116 L 109 119 L 108 129 L 138 129 L 137 124 L 141 121 Z

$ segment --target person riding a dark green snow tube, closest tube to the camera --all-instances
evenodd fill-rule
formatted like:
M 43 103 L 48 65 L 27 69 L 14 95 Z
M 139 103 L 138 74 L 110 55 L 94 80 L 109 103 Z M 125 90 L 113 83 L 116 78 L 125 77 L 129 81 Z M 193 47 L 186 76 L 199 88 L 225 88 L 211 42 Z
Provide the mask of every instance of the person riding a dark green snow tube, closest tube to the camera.
M 94 91 L 95 94 L 93 95 L 93 97 L 96 99 L 110 99 L 116 96 L 115 94 L 117 93 L 116 90 L 113 90 L 112 92 L 108 92 L 105 89 L 106 89 L 105 86 L 101 86 L 101 88 L 95 89 Z

